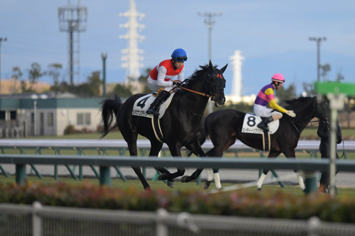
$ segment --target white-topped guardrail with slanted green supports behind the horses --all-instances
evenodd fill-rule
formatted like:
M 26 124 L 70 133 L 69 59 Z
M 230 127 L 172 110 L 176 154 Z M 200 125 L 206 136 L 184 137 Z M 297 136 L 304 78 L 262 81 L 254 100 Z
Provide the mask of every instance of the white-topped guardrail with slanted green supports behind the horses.
M 296 147 L 296 151 L 303 151 L 310 153 L 310 157 L 317 158 L 317 152 L 319 151 L 320 140 L 300 140 Z M 123 156 L 127 150 L 127 143 L 121 139 L 105 139 L 105 140 L 96 140 L 96 139 L 0 139 L 0 149 L 2 153 L 5 153 L 5 149 L 13 149 L 16 148 L 20 151 L 21 154 L 25 154 L 24 149 L 35 149 L 35 154 L 41 154 L 41 149 L 49 148 L 55 151 L 55 154 L 60 154 L 60 150 L 77 150 L 77 155 L 84 154 L 84 150 L 97 150 L 99 155 L 108 155 L 108 150 L 118 150 L 119 154 Z M 137 148 L 140 151 L 141 156 L 145 156 L 146 152 L 148 152 L 151 148 L 151 144 L 149 140 L 138 140 Z M 213 144 L 210 140 L 206 140 L 206 142 L 202 145 L 203 150 L 210 150 L 213 148 Z M 338 144 L 338 149 L 342 150 L 343 145 Z M 182 150 L 186 150 L 185 147 Z M 166 144 L 163 144 L 162 152 L 163 156 L 166 155 L 166 151 L 169 152 L 169 148 Z M 235 156 L 237 156 L 238 152 L 260 152 L 260 157 L 264 157 L 263 152 L 260 150 L 255 150 L 241 141 L 237 140 L 235 144 L 233 144 L 228 152 L 234 152 Z M 345 140 L 344 141 L 344 159 L 346 159 L 346 152 L 355 152 L 355 141 Z M 169 152 L 170 153 L 170 152 Z M 99 174 L 95 170 L 92 165 L 89 165 L 94 172 L 95 176 L 99 179 Z M 75 168 L 70 168 L 68 164 L 65 165 L 74 179 L 83 179 L 83 170 L 82 165 L 79 165 L 79 175 L 76 176 Z M 117 176 L 123 181 L 127 181 L 125 176 L 121 173 L 119 166 L 114 166 L 117 172 Z M 5 170 L 0 165 L 0 170 L 5 176 L 8 176 Z M 34 170 L 35 174 L 42 178 L 38 170 L 35 168 L 33 164 L 31 164 L 31 173 Z M 143 175 L 145 176 L 146 169 L 143 168 Z M 278 177 L 277 173 L 272 170 L 272 173 L 275 177 Z M 259 173 L 260 174 L 260 173 Z M 153 180 L 156 180 L 159 173 L 155 174 Z M 58 166 L 54 164 L 54 179 L 58 179 Z M 320 179 L 320 177 L 318 178 Z M 200 184 L 200 178 L 197 180 L 197 184 Z M 282 182 L 280 182 L 281 186 L 284 186 Z

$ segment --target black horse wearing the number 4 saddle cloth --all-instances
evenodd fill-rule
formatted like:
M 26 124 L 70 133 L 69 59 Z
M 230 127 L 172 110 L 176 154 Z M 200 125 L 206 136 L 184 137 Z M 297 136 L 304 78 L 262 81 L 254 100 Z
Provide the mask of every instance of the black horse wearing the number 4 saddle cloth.
M 227 65 L 221 69 L 217 69 L 217 66 L 213 66 L 212 62 L 209 61 L 209 65 L 200 66 L 200 70 L 196 69 L 186 80 L 185 84 L 183 84 L 184 88 L 193 90 L 194 92 L 179 90 L 171 100 L 169 108 L 160 119 L 160 127 L 171 156 L 181 157 L 180 148 L 183 146 L 197 156 L 206 156 L 198 142 L 204 129 L 203 113 L 208 103 L 208 94 L 211 95 L 211 100 L 215 102 L 215 106 L 219 107 L 224 104 L 225 79 L 222 74 Z M 149 156 L 158 156 L 163 146 L 163 143 L 155 137 L 152 128 L 152 119 L 132 115 L 135 101 L 145 95 L 132 95 L 124 103 L 121 102 L 118 96 L 115 96 L 114 99 L 102 101 L 102 122 L 104 124 L 102 137 L 110 131 L 114 118 L 113 114 L 115 114 L 116 126 L 118 126 L 123 138 L 127 142 L 131 156 L 137 156 L 138 134 L 147 137 L 151 142 Z M 144 189 L 151 191 L 149 184 L 141 173 L 141 168 L 132 168 L 141 180 Z M 159 175 L 159 180 L 168 180 L 168 186 L 172 188 L 174 187 L 173 179 L 185 173 L 185 168 L 178 168 L 178 172 L 175 173 L 170 173 L 165 168 L 155 169 L 162 173 Z M 197 179 L 202 170 L 203 168 L 197 169 L 191 175 L 191 180 Z

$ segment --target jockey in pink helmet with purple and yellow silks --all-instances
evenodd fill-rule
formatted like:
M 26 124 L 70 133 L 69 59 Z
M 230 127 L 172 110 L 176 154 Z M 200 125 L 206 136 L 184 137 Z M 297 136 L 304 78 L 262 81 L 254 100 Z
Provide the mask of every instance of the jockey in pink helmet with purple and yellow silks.
M 282 113 L 288 114 L 290 117 L 295 117 L 296 114 L 293 111 L 287 111 L 286 109 L 277 105 L 274 99 L 274 89 L 279 89 L 282 84 L 285 83 L 284 76 L 280 73 L 274 74 L 271 78 L 272 83 L 264 86 L 256 96 L 254 102 L 254 114 L 261 117 L 266 117 L 262 122 L 258 124 L 258 128 L 269 131 L 268 123 L 273 120 L 278 120 L 282 117 Z M 267 108 L 266 105 L 270 104 L 271 108 Z M 277 111 L 273 111 L 276 109 Z

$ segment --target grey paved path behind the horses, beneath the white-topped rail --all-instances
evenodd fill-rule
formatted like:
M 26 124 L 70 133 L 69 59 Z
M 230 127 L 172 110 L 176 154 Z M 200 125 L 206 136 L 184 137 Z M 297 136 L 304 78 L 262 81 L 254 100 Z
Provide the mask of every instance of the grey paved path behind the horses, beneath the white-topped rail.
M 9 174 L 15 174 L 15 165 L 14 164 L 2 164 L 2 167 Z M 44 176 L 53 176 L 54 166 L 53 165 L 35 165 L 40 174 Z M 99 172 L 98 167 L 95 169 Z M 27 165 L 27 174 L 30 173 L 31 167 Z M 175 168 L 170 168 L 170 171 L 175 171 Z M 116 177 L 116 170 L 111 168 L 111 176 Z M 195 168 L 189 168 L 186 170 L 185 174 L 191 175 L 195 171 Z M 133 172 L 133 169 L 130 167 L 121 167 L 121 172 L 126 176 L 127 179 L 138 179 L 136 174 Z M 75 169 L 75 173 L 79 174 L 78 166 Z M 250 182 L 257 181 L 258 179 L 258 170 L 235 170 L 235 169 L 221 169 L 219 171 L 221 181 L 228 182 Z M 282 178 L 282 176 L 293 174 L 294 172 L 291 170 L 277 170 L 278 175 Z M 147 168 L 146 176 L 148 179 L 153 178 L 155 174 L 155 170 L 153 168 Z M 69 171 L 64 167 L 64 165 L 58 166 L 58 175 L 60 176 L 70 176 Z M 94 178 L 94 173 L 92 169 L 88 166 L 83 166 L 83 175 L 84 177 L 92 177 Z M 268 173 L 266 180 L 270 179 L 272 176 L 271 172 Z M 179 180 L 180 178 L 177 178 Z M 207 179 L 207 172 L 204 170 L 202 172 L 202 179 Z M 338 187 L 355 187 L 355 173 L 347 173 L 342 172 L 338 173 L 336 178 L 336 184 Z M 292 179 L 288 179 L 285 181 L 286 185 L 298 185 L 298 181 L 295 177 Z

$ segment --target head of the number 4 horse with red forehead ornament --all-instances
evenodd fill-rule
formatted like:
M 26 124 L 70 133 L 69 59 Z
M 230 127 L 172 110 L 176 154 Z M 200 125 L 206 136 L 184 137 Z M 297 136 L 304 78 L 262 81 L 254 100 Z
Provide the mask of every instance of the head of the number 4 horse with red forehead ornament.
M 212 96 L 211 101 L 214 102 L 216 107 L 220 107 L 225 102 L 224 88 L 225 79 L 223 77 L 223 72 L 227 68 L 228 63 L 221 69 L 214 68 L 211 60 L 208 65 L 208 75 L 206 79 L 206 91 Z

